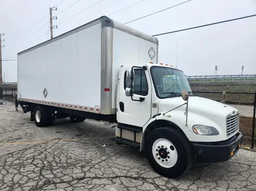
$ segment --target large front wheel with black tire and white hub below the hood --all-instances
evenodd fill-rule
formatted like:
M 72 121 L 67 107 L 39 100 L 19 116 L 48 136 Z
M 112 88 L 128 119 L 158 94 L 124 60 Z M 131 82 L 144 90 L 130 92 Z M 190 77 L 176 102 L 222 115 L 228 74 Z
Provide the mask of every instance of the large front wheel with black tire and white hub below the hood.
M 192 150 L 186 137 L 177 129 L 161 127 L 149 134 L 146 155 L 151 167 L 160 175 L 176 178 L 192 165 Z

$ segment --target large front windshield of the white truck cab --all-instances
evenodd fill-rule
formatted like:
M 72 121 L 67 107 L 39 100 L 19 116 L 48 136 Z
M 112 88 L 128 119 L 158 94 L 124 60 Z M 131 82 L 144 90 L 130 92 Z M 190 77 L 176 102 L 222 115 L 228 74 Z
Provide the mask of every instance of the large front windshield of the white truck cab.
M 181 96 L 181 91 L 186 89 L 193 95 L 185 74 L 177 69 L 154 66 L 151 68 L 155 92 L 159 98 Z

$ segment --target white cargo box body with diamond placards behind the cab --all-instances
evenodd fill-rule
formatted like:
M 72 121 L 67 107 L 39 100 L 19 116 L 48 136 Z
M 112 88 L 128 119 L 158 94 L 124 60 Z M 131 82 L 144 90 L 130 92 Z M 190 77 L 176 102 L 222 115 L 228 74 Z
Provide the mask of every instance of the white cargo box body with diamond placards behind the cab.
M 158 40 L 108 17 L 18 53 L 18 100 L 114 114 L 119 68 L 157 63 Z

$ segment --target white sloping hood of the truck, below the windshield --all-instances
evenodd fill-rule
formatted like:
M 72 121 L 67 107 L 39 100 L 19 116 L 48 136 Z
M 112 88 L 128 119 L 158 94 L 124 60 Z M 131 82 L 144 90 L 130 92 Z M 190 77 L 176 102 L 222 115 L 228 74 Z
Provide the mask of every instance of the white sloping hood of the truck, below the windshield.
M 166 112 L 173 108 L 176 108 L 179 105 L 185 103 L 182 97 L 173 97 L 170 99 L 163 99 L 159 102 L 159 112 Z M 185 112 L 186 105 L 181 106 L 176 110 L 182 110 Z M 229 105 L 225 105 L 214 100 L 206 99 L 203 97 L 190 96 L 188 99 L 188 114 L 192 112 L 201 116 L 209 117 L 221 117 L 225 118 L 228 115 L 235 115 L 239 111 L 236 108 L 233 108 Z

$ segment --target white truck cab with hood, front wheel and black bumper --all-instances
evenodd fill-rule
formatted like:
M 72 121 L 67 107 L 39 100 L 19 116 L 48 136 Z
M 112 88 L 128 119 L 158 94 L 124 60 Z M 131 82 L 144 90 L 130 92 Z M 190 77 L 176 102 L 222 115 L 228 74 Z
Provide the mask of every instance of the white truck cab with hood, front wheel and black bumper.
M 195 96 L 184 72 L 171 65 L 121 66 L 115 100 L 113 140 L 140 146 L 163 176 L 181 176 L 192 160 L 229 160 L 241 146 L 239 111 Z

